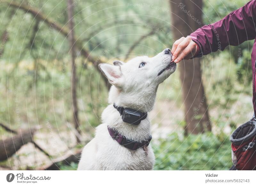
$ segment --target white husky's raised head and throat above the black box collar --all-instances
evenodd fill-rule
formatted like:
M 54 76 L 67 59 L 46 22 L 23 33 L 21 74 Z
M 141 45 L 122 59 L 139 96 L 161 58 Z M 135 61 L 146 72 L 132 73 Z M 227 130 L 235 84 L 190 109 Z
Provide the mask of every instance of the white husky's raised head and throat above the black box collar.
M 158 85 L 176 70 L 176 63 L 171 61 L 171 51 L 165 49 L 152 58 L 141 56 L 127 63 L 114 61 L 114 65 L 100 64 L 100 69 L 114 85 L 109 92 L 109 102 L 143 112 L 150 111 Z

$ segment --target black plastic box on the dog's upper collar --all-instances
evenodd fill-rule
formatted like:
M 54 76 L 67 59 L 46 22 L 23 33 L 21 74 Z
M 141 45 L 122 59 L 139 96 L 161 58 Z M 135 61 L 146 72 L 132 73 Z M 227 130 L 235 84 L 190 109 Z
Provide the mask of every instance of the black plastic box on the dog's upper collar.
M 139 125 L 142 115 L 142 112 L 135 111 L 130 108 L 125 108 L 122 115 L 122 120 L 133 125 Z

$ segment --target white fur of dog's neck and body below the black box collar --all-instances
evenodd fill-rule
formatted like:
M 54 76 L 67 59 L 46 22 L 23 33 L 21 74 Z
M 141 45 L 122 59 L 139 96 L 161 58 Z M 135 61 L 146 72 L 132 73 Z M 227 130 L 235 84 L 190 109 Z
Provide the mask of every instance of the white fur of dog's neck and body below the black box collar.
M 109 105 L 102 119 L 94 139 L 84 147 L 78 170 L 152 170 L 155 157 L 150 145 L 148 154 L 143 148 L 132 151 L 113 140 L 107 128 L 108 125 L 115 127 L 125 137 L 141 142 L 150 135 L 148 118 L 138 126 L 124 123 L 119 112 Z

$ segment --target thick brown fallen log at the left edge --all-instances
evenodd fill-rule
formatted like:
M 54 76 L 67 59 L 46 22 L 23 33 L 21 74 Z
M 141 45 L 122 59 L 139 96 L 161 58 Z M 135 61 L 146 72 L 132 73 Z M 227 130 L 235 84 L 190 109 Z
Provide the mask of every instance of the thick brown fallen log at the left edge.
M 33 135 L 38 128 L 20 130 L 17 135 L 0 141 L 0 161 L 11 157 L 24 144 L 33 142 Z

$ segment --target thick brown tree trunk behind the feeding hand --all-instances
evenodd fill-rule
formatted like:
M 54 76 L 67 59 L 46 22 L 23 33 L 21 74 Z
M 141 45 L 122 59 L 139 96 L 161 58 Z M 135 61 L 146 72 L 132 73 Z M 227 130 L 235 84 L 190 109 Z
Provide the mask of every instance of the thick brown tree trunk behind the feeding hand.
M 175 40 L 180 37 L 186 37 L 197 28 L 203 26 L 202 0 L 194 2 L 190 0 L 172 0 L 170 4 L 172 30 Z M 201 24 L 198 22 L 201 22 Z M 211 131 L 201 78 L 200 58 L 182 60 L 178 66 L 185 105 L 186 133 L 198 134 L 204 132 L 204 130 Z

